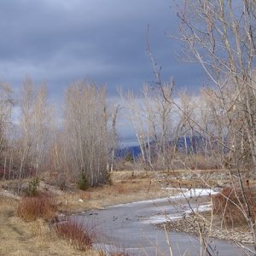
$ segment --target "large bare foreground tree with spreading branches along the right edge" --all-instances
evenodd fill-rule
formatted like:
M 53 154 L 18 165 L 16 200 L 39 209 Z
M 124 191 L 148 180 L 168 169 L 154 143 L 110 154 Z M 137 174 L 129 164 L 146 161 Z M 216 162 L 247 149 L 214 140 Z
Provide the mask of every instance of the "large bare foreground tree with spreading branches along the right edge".
M 239 211 L 243 212 L 253 234 L 256 250 L 254 206 L 244 182 L 255 177 L 256 168 L 256 3 L 184 1 L 178 16 L 186 55 L 190 56 L 189 61 L 201 63 L 215 85 L 212 99 L 218 102 L 215 108 L 217 105 L 208 101 L 212 121 L 207 126 L 194 121 L 229 156 L 230 183 L 239 201 Z

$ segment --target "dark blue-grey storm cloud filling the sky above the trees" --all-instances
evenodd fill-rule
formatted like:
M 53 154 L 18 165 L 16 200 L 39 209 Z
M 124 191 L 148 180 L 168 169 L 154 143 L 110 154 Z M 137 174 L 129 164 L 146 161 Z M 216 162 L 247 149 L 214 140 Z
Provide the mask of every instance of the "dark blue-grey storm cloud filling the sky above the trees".
M 18 86 L 29 74 L 35 81 L 45 80 L 55 96 L 73 80 L 86 78 L 108 84 L 110 94 L 118 86 L 137 89 L 154 80 L 146 53 L 149 23 L 150 46 L 164 79 L 174 76 L 182 85 L 186 67 L 181 72 L 174 56 L 179 44 L 165 36 L 177 27 L 171 3 L 2 0 L 0 79 Z

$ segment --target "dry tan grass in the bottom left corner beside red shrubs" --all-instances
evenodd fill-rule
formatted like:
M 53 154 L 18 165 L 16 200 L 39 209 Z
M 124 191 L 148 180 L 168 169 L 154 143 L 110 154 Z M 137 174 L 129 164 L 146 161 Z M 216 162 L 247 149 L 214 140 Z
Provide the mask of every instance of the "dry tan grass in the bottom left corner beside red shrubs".
M 41 218 L 26 223 L 15 216 L 18 202 L 0 197 L 0 255 L 99 255 L 88 250 L 81 252 L 60 240 L 55 231 Z

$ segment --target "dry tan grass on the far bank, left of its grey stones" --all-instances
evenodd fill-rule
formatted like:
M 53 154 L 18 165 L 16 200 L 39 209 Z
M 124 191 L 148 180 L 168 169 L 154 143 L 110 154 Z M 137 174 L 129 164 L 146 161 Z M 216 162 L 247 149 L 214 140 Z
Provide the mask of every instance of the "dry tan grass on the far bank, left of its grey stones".
M 145 173 L 141 175 L 148 175 Z M 132 176 L 132 172 L 120 172 L 120 175 L 115 173 L 112 185 L 102 185 L 73 194 L 65 192 L 58 198 L 61 201 L 61 210 L 77 212 L 166 196 L 159 181 L 152 178 L 153 174 L 150 172 L 148 177 L 137 177 Z

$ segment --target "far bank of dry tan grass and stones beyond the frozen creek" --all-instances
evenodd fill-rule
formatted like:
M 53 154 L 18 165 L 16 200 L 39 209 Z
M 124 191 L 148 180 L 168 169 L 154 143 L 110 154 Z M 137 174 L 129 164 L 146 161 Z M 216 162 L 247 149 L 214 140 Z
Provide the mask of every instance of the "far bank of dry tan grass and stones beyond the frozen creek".
M 66 212 L 79 212 L 91 208 L 102 208 L 110 205 L 129 203 L 132 201 L 143 201 L 154 198 L 170 196 L 170 190 L 162 187 L 172 188 L 201 188 L 207 184 L 214 187 L 216 180 L 211 178 L 204 183 L 199 177 L 210 177 L 215 171 L 195 171 L 199 176 L 191 179 L 183 179 L 191 175 L 188 170 L 171 172 L 145 172 L 145 171 L 122 171 L 112 172 L 112 185 L 102 185 L 90 188 L 86 191 L 76 193 L 65 192 L 58 197 L 61 201 L 61 210 Z M 218 171 L 217 171 L 218 172 Z M 177 193 L 177 191 L 173 191 Z

